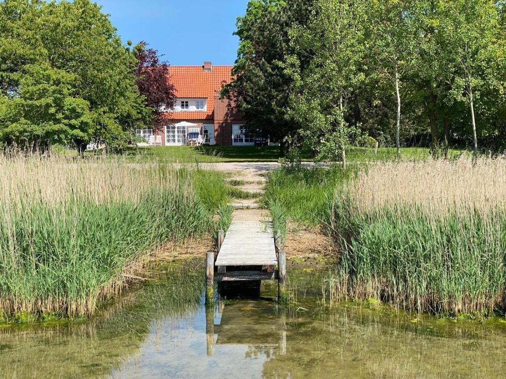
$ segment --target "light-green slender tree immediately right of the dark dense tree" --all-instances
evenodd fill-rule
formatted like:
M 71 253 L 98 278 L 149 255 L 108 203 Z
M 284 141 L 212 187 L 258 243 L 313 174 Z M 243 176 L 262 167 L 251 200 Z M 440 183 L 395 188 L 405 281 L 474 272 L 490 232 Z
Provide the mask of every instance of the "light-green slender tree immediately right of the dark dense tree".
M 308 25 L 292 28 L 291 71 L 299 93 L 292 98 L 293 117 L 304 125 L 305 142 L 319 159 L 342 159 L 353 127 L 347 122 L 349 102 L 364 79 L 364 2 L 320 0 Z M 301 67 L 297 56 L 311 56 Z

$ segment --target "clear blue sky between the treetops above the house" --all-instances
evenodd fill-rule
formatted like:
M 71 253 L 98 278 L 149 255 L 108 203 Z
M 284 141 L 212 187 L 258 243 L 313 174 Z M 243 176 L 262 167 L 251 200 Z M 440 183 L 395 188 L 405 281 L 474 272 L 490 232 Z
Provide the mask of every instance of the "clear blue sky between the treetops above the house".
M 145 40 L 171 65 L 234 64 L 248 0 L 96 0 L 123 42 Z

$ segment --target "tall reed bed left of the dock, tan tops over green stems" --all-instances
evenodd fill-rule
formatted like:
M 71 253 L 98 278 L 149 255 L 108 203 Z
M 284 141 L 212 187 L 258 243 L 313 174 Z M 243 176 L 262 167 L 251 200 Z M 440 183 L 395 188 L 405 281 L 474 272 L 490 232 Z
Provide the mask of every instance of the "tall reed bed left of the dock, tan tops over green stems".
M 0 316 L 92 315 L 157 247 L 213 228 L 167 165 L 0 157 L 0 177 Z

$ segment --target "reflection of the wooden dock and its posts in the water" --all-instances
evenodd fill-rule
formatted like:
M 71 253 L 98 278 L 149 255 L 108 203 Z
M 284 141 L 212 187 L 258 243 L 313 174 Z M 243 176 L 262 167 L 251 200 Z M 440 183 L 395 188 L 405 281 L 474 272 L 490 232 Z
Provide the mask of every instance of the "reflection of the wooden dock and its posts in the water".
M 284 311 L 265 301 L 240 301 L 232 305 L 220 302 L 220 324 L 215 325 L 215 308 L 206 308 L 207 355 L 215 355 L 216 345 L 245 345 L 278 349 L 286 354 Z

